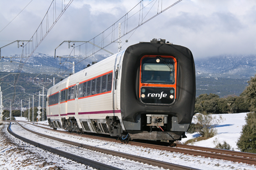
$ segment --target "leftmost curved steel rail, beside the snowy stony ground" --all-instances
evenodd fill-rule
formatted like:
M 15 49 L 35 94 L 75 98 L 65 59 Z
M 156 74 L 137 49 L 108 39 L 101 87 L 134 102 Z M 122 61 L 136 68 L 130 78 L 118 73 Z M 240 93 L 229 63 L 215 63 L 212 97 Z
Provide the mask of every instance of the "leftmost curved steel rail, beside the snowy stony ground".
M 71 160 L 74 160 L 76 162 L 81 162 L 84 165 L 91 166 L 91 167 L 96 168 L 96 169 L 102 169 L 102 170 L 103 169 L 104 170 L 112 170 L 112 169 L 113 170 L 121 170 L 120 168 L 117 168 L 117 167 L 114 167 L 114 166 L 106 165 L 106 164 L 103 164 L 103 163 L 100 163 L 100 162 L 97 162 L 97 161 L 94 161 L 94 160 L 91 160 L 91 159 L 87 159 L 87 158 L 84 158 L 84 157 L 81 157 L 81 156 L 74 155 L 72 153 L 64 152 L 64 151 L 52 148 L 50 146 L 46 146 L 44 144 L 40 144 L 40 143 L 34 142 L 34 141 L 29 140 L 29 139 L 27 139 L 25 137 L 21 137 L 21 136 L 17 135 L 16 133 L 12 132 L 12 130 L 10 129 L 10 126 L 11 126 L 11 122 L 8 125 L 7 130 L 14 137 L 17 137 L 18 139 L 23 140 L 23 141 L 25 141 L 25 142 L 27 142 L 29 144 L 35 145 L 35 146 L 37 146 L 37 147 L 39 147 L 41 149 L 50 151 L 52 153 L 56 153 L 56 154 L 58 154 L 60 156 L 63 156 L 65 158 L 68 158 L 68 159 L 71 159 Z

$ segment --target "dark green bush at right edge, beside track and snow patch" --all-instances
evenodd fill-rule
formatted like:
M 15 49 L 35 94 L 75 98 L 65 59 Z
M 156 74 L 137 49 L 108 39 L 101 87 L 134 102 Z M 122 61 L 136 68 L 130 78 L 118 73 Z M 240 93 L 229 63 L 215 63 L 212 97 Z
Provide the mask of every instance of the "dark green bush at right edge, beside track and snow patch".
M 256 153 L 256 113 L 247 113 L 245 122 L 236 145 L 242 152 Z

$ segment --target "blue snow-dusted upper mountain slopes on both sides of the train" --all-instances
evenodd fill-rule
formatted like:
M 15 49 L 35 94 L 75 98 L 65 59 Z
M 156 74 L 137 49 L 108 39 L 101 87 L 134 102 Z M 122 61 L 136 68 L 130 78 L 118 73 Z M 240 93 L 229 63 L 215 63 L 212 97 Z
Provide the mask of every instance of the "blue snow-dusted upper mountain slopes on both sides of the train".
M 75 58 L 65 58 L 68 56 L 61 56 L 54 59 L 54 56 L 34 53 L 29 58 L 12 58 L 12 61 L 18 63 L 10 63 L 11 59 L 8 57 L 21 57 L 21 55 L 14 55 L 1 58 L 0 71 L 15 72 L 19 68 L 19 63 L 26 63 L 23 65 L 23 72 L 40 73 L 40 72 L 72 72 L 72 63 L 75 62 L 75 72 L 84 69 L 92 62 L 98 62 L 110 56 L 92 55 L 86 59 L 85 56 L 76 55 Z M 27 61 L 26 61 L 27 60 Z M 64 63 L 70 62 L 70 63 Z M 79 62 L 79 63 L 78 63 Z M 196 76 L 197 77 L 220 77 L 220 78 L 250 78 L 256 73 L 256 55 L 220 55 L 204 59 L 195 60 Z

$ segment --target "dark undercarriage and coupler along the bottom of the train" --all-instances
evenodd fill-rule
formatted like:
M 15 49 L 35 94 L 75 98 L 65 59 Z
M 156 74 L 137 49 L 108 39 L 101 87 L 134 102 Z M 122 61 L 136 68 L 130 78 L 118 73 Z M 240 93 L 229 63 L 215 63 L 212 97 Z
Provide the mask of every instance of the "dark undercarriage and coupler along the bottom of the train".
M 152 116 L 152 115 L 147 115 Z M 154 122 L 154 118 L 157 118 L 159 123 Z M 120 120 L 117 116 L 107 116 L 106 119 L 79 119 L 77 121 L 75 117 L 61 118 L 51 120 L 48 119 L 49 126 L 53 129 L 65 129 L 70 133 L 99 133 L 110 135 L 111 137 L 118 137 L 123 139 L 145 139 L 145 140 L 169 140 L 170 143 L 185 138 L 185 131 L 167 131 L 167 118 L 165 116 L 152 116 L 147 123 L 145 123 L 140 129 L 127 129 L 123 130 Z M 123 121 L 125 125 L 127 122 Z M 80 128 L 78 123 L 81 125 Z M 127 125 L 129 126 L 129 125 Z M 131 125 L 133 126 L 133 125 Z M 161 127 L 162 126 L 162 127 Z M 189 124 L 186 124 L 188 129 Z M 173 128 L 173 127 L 172 127 Z

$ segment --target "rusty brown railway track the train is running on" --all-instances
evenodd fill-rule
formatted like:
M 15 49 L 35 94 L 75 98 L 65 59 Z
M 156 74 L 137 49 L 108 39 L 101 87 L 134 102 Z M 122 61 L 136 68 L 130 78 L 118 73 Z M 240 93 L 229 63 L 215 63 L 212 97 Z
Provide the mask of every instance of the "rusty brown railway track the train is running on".
M 39 126 L 39 127 L 53 130 L 51 128 L 46 128 L 42 126 Z M 67 131 L 61 131 L 61 130 L 55 130 L 55 131 L 58 131 L 61 133 L 69 133 Z M 228 160 L 228 161 L 233 161 L 238 163 L 242 162 L 250 165 L 256 165 L 256 154 L 254 153 L 237 152 L 237 151 L 230 151 L 230 150 L 224 150 L 224 149 L 206 148 L 206 147 L 184 145 L 184 144 L 174 144 L 175 147 L 170 147 L 169 146 L 170 144 L 166 142 L 154 142 L 155 144 L 148 144 L 148 143 L 142 143 L 142 142 L 124 141 L 124 140 L 117 140 L 113 138 L 98 137 L 98 136 L 91 136 L 91 135 L 84 135 L 84 134 L 79 134 L 79 136 L 90 137 L 90 138 L 100 139 L 100 140 L 107 140 L 111 142 L 131 144 L 131 145 L 148 147 L 148 148 L 159 149 L 159 150 L 165 150 L 169 152 L 179 152 L 179 153 L 184 153 L 188 155 L 202 156 L 202 157 L 208 157 L 213 159 L 223 159 L 223 160 Z

